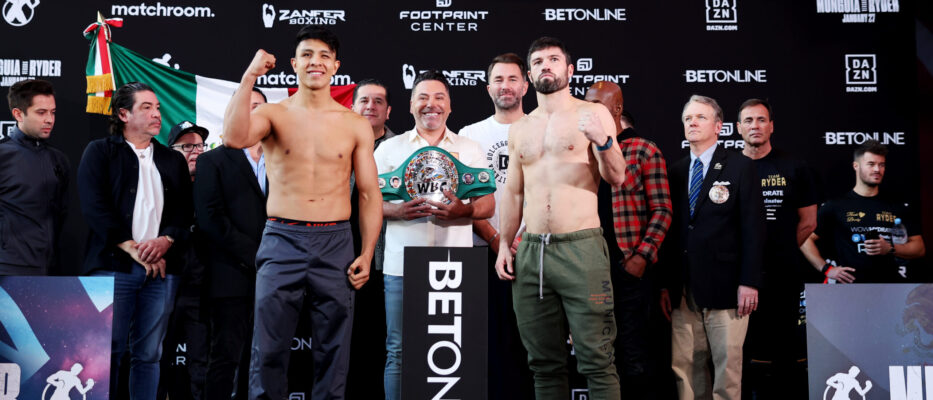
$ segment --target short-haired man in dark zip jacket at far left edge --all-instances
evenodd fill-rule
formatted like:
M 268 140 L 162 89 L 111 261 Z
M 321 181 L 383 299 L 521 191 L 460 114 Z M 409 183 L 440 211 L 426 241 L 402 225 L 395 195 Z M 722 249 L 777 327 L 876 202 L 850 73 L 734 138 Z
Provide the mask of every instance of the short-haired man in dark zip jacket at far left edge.
M 49 82 L 25 80 L 10 87 L 7 100 L 16 127 L 0 144 L 0 275 L 46 275 L 57 264 L 71 170 L 46 142 L 55 91 Z

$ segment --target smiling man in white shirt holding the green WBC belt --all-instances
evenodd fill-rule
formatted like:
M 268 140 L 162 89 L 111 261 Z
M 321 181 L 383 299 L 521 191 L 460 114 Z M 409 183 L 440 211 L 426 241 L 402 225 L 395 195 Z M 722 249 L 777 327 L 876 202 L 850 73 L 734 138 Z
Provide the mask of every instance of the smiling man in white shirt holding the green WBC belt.
M 412 86 L 410 103 L 415 127 L 379 146 L 375 158 L 380 173 L 395 171 L 408 157 L 426 146 L 440 147 L 469 167 L 485 166 L 479 144 L 447 128 L 450 88 L 444 74 L 428 70 L 418 75 Z M 383 264 L 386 303 L 386 367 L 383 383 L 386 399 L 402 398 L 402 257 L 405 247 L 469 247 L 473 244 L 473 221 L 491 217 L 495 208 L 495 199 L 491 193 L 469 200 L 460 200 L 451 191 L 445 191 L 444 194 L 450 200 L 449 204 L 427 200 L 425 197 L 406 202 L 383 202 L 383 212 L 389 220 Z M 413 395 L 406 394 L 406 397 L 411 398 Z

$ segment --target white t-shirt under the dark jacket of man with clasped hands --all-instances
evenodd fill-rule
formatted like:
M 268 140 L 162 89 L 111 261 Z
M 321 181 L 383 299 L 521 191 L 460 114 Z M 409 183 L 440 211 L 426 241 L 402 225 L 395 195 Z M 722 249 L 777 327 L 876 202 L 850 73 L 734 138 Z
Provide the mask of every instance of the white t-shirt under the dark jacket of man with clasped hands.
M 162 192 L 162 175 L 152 160 L 152 143 L 145 149 L 137 149 L 130 142 L 126 144 L 133 149 L 139 161 L 139 181 L 133 204 L 133 240 L 140 243 L 159 236 L 165 194 Z

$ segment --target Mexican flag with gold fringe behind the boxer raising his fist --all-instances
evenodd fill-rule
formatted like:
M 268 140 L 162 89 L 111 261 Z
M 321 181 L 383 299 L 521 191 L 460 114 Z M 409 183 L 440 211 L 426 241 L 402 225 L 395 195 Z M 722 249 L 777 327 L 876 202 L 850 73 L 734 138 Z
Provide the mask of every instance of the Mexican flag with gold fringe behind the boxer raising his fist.
M 210 132 L 205 143 L 208 148 L 219 146 L 224 110 L 239 82 L 178 70 L 111 42 L 110 27 L 122 25 L 121 18 L 105 19 L 98 13 L 97 22 L 84 30 L 84 36 L 91 41 L 86 68 L 86 111 L 110 115 L 113 91 L 129 82 L 143 82 L 152 87 L 161 103 L 162 131 L 156 139 L 165 143 L 175 124 L 191 121 Z M 355 86 L 331 86 L 331 96 L 349 108 Z M 270 103 L 282 101 L 297 91 L 297 88 L 259 89 Z

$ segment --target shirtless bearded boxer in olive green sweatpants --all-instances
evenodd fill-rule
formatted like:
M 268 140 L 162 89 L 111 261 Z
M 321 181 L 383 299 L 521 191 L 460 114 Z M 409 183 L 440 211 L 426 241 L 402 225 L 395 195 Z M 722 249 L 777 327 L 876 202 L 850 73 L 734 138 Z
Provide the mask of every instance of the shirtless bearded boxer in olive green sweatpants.
M 596 192 L 600 177 L 614 187 L 623 183 L 625 158 L 606 107 L 570 95 L 573 63 L 563 43 L 535 40 L 528 62 L 538 108 L 509 129 L 514 162 L 501 195 L 496 272 L 513 281 L 536 398 L 569 395 L 569 325 L 589 397 L 618 399 L 614 300 Z M 513 263 L 509 249 L 523 216 L 527 230 Z

